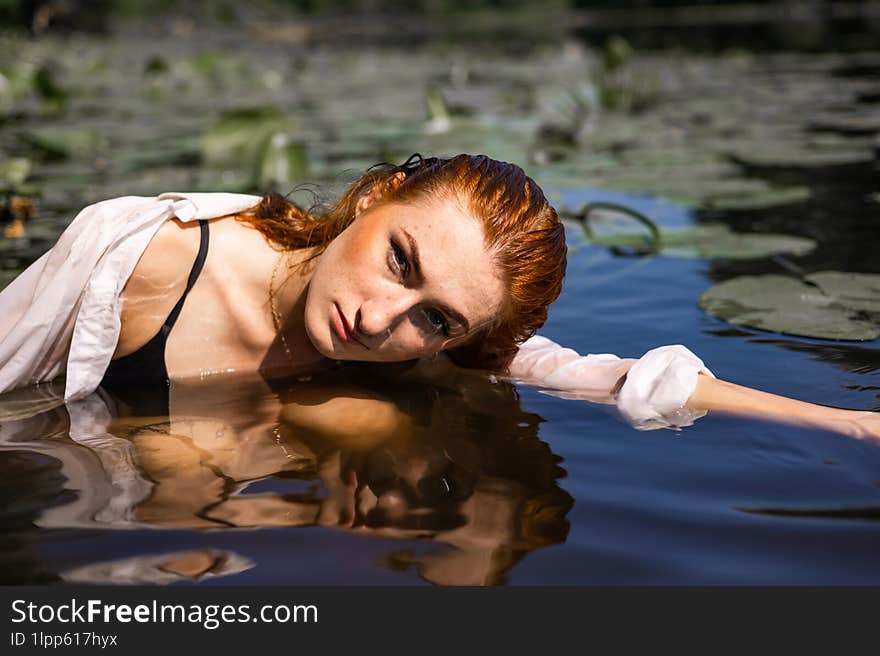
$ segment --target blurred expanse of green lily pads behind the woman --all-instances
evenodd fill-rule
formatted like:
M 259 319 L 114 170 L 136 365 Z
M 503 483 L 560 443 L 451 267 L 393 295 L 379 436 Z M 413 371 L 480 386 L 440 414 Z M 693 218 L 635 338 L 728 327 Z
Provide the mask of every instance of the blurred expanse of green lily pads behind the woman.
M 593 207 L 575 247 L 581 235 L 618 255 L 784 253 L 809 258 L 798 263 L 807 270 L 871 270 L 871 228 L 850 226 L 877 207 L 875 190 L 832 198 L 823 176 L 850 185 L 854 172 L 875 173 L 876 112 L 844 100 L 876 93 L 876 81 L 829 75 L 833 57 L 786 55 L 777 66 L 772 56 L 641 52 L 620 37 L 527 57 L 477 44 L 401 57 L 395 47 L 279 48 L 266 34 L 199 25 L 184 36 L 0 35 L 0 190 L 40 197 L 44 218 L 28 221 L 28 238 L 43 220 L 57 235 L 100 198 L 303 182 L 335 193 L 379 161 L 479 152 L 523 165 L 545 189 L 631 192 L 616 197 L 623 208 Z M 632 194 L 713 223 L 693 225 L 685 211 L 670 222 Z

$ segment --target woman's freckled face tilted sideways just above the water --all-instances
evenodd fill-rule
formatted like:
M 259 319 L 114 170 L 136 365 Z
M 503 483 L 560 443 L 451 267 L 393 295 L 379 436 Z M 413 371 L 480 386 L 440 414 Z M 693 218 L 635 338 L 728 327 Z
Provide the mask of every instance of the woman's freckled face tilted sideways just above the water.
M 321 255 L 305 307 L 315 348 L 392 362 L 467 341 L 504 304 L 482 226 L 457 202 L 364 204 Z

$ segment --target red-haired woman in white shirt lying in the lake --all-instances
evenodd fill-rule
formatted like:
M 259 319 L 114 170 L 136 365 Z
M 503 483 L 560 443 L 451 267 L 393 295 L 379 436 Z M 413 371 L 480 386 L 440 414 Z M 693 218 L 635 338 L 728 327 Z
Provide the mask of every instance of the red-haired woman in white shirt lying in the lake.
M 561 291 L 565 249 L 540 188 L 485 156 L 373 167 L 320 216 L 274 194 L 106 201 L 0 295 L 0 391 L 66 373 L 75 400 L 215 372 L 441 366 L 445 352 L 616 401 L 639 428 L 717 409 L 880 434 L 876 413 L 717 381 L 682 346 L 636 361 L 533 337 Z

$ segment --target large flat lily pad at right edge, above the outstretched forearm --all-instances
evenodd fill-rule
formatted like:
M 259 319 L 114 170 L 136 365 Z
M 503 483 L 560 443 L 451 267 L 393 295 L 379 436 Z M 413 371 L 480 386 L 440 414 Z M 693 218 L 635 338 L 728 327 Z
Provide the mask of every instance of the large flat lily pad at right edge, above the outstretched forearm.
M 880 337 L 878 274 L 740 276 L 709 288 L 698 304 L 714 317 L 759 330 L 818 339 Z

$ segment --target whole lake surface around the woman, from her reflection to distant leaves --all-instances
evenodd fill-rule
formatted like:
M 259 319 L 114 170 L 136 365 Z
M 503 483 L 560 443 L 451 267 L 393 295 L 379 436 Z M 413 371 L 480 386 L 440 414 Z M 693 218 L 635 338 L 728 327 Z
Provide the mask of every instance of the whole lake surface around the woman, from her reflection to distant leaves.
M 564 34 L 514 54 L 350 48 L 276 22 L 247 39 L 171 20 L 0 34 L 0 154 L 18 160 L 0 186 L 40 198 L 28 237 L 0 240 L 0 285 L 99 199 L 338 187 L 415 151 L 485 152 L 570 211 L 615 202 L 664 233 L 816 242 L 619 257 L 571 224 L 542 334 L 622 357 L 680 343 L 720 378 L 880 410 L 876 339 L 761 332 L 697 306 L 744 274 L 880 273 L 876 53 L 638 52 L 601 69 Z M 715 415 L 639 432 L 545 391 L 341 369 L 175 385 L 170 417 L 17 393 L 0 400 L 0 582 L 880 583 L 880 445 Z

